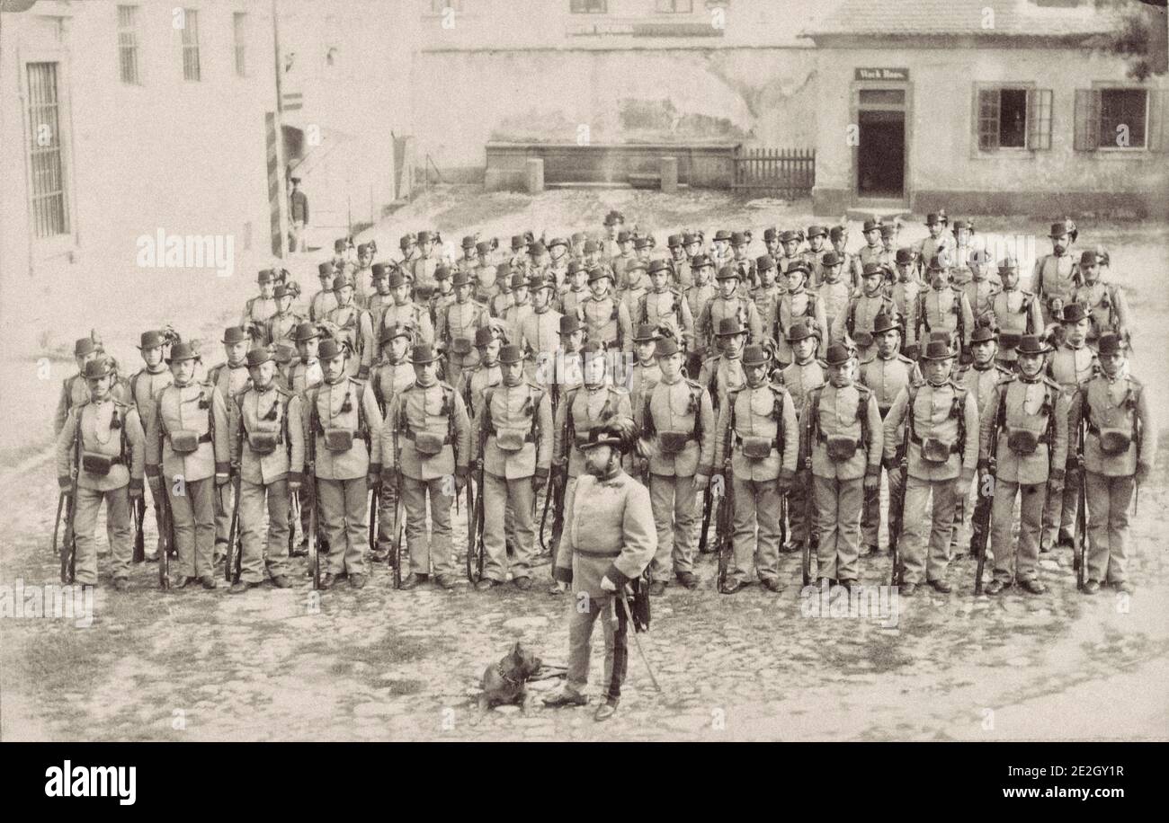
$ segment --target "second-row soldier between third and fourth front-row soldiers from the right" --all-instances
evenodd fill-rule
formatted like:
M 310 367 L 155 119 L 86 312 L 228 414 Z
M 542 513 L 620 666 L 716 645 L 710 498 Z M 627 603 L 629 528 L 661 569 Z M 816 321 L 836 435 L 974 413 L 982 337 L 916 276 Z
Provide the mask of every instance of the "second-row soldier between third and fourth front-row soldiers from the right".
M 900 354 L 901 350 L 901 327 L 898 325 L 897 315 L 880 313 L 873 321 L 872 330 L 876 341 L 876 351 L 862 361 L 857 372 L 857 383 L 872 391 L 877 398 L 877 411 L 880 413 L 881 425 L 888 416 L 888 410 L 893 406 L 897 396 L 908 385 L 921 385 L 925 377 L 918 364 Z M 900 463 L 900 455 L 895 455 L 894 465 Z M 888 496 L 894 497 L 900 489 L 901 473 L 888 472 Z M 869 555 L 879 555 L 877 532 L 880 530 L 880 483 L 872 493 L 865 494 L 864 512 L 860 517 L 860 538 L 867 546 Z

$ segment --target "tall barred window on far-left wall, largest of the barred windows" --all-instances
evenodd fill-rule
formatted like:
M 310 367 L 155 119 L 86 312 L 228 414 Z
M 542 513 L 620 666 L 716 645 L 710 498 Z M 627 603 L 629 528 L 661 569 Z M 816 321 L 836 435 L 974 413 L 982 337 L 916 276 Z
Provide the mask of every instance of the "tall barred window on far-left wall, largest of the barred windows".
M 28 166 L 36 237 L 69 233 L 57 64 L 28 64 Z

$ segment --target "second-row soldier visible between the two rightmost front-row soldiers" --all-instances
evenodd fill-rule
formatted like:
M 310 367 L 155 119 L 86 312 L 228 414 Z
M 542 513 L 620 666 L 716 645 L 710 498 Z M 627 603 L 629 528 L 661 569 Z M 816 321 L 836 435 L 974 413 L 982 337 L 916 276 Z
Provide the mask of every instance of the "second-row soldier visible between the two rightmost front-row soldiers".
M 1071 407 L 1077 390 L 1099 374 L 1100 364 L 1095 353 L 1087 346 L 1091 321 L 1084 306 L 1078 302 L 1067 304 L 1060 320 L 1064 342 L 1047 360 L 1047 377 L 1059 384 Z M 1068 477 L 1063 484 L 1063 495 L 1049 489 L 1047 503 L 1043 510 L 1040 551 L 1051 551 L 1057 545 L 1072 545 L 1072 529 L 1079 507 L 1079 476 Z

